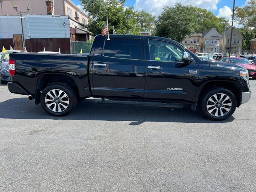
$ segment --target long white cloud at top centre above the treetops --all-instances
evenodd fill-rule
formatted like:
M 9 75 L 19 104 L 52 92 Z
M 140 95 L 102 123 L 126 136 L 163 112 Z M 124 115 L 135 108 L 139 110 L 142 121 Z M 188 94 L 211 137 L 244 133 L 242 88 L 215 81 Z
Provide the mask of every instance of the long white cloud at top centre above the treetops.
M 182 5 L 193 5 L 207 10 L 217 10 L 217 4 L 220 0 L 136 0 L 135 10 L 144 10 L 155 16 L 158 16 L 164 6 L 174 6 L 181 2 Z

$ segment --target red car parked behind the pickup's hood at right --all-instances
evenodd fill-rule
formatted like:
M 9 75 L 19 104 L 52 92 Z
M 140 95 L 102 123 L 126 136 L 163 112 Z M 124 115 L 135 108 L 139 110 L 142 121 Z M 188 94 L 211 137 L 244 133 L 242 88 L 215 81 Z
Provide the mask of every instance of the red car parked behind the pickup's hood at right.
M 224 57 L 220 62 L 233 63 L 245 67 L 249 72 L 249 77 L 256 79 L 256 65 L 242 57 Z

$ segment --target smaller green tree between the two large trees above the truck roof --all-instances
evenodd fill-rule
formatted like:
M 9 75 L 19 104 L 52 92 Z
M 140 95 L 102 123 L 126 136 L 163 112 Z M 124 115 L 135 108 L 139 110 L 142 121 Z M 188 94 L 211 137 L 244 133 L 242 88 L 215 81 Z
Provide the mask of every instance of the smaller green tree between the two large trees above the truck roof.
M 140 31 L 154 32 L 156 17 L 145 11 L 136 11 L 135 19 L 138 22 L 138 28 Z

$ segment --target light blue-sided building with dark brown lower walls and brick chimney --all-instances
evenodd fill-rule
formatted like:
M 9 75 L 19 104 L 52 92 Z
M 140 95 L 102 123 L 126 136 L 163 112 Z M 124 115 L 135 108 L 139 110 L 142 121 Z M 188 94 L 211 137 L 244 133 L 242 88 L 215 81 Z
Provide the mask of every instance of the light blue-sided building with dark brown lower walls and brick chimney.
M 44 2 L 45 3 L 45 2 Z M 46 1 L 47 15 L 24 15 L 23 31 L 28 52 L 70 53 L 70 41 L 88 41 L 93 34 L 86 25 L 70 16 L 53 15 L 53 4 Z M 22 50 L 22 28 L 19 16 L 0 16 L 0 47 Z

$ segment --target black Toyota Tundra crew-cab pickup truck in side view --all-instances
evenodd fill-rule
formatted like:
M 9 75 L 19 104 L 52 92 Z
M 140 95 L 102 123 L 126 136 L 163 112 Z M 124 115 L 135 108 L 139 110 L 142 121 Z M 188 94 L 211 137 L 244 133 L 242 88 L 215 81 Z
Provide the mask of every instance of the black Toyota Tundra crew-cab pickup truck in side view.
M 224 120 L 251 97 L 245 68 L 202 61 L 182 44 L 154 36 L 98 35 L 88 56 L 10 54 L 9 69 L 10 92 L 29 95 L 54 116 L 94 97 L 190 104 Z

